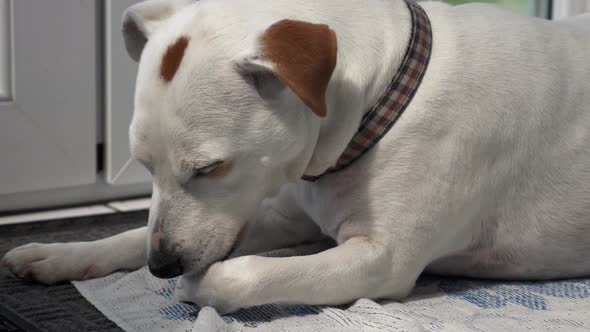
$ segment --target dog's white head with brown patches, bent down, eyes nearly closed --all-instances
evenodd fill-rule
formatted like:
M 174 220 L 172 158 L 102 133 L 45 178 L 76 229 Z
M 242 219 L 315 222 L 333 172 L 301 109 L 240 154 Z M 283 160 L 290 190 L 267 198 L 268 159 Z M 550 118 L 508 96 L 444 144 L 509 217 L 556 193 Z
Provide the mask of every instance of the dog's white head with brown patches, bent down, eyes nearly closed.
M 335 33 L 232 3 L 149 0 L 123 18 L 139 62 L 131 151 L 153 175 L 159 277 L 226 257 L 260 202 L 303 174 L 326 114 Z

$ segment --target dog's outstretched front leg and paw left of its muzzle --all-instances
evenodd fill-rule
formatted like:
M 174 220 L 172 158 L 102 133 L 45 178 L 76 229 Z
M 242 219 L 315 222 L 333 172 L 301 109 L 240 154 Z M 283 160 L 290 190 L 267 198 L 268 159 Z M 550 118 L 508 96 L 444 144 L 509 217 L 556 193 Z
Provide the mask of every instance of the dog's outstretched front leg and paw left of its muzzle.
M 90 242 L 31 243 L 9 251 L 0 265 L 45 284 L 97 278 L 146 265 L 146 236 L 142 227 Z

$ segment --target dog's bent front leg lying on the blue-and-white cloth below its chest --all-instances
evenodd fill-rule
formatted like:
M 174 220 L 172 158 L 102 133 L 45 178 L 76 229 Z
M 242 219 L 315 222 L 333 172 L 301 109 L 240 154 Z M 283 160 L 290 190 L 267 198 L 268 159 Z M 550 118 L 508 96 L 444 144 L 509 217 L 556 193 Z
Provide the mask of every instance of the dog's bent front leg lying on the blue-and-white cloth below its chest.
M 266 303 L 344 304 L 359 298 L 405 297 L 420 273 L 396 265 L 386 246 L 366 237 L 309 256 L 244 256 L 216 263 L 198 279 L 184 277 L 177 298 L 229 313 Z

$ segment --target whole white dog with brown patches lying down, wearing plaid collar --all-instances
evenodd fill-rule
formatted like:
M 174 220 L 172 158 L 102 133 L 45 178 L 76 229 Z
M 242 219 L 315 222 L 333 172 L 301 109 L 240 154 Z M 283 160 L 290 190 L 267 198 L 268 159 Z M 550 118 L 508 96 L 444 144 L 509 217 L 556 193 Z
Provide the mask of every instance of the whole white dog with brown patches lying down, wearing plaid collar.
M 590 16 L 420 6 L 134 5 L 123 27 L 141 58 L 130 137 L 154 179 L 148 227 L 3 263 L 55 283 L 147 262 L 183 275 L 181 300 L 224 313 L 401 299 L 425 270 L 590 275 Z M 251 255 L 323 235 L 338 245 Z

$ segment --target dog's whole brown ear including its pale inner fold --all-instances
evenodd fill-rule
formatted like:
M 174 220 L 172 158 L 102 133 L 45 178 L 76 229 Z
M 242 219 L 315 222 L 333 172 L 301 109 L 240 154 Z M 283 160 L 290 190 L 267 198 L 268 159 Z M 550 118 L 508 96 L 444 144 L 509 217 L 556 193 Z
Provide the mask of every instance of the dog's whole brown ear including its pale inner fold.
M 238 60 L 263 97 L 283 85 L 326 116 L 326 90 L 336 67 L 336 33 L 324 24 L 282 20 L 266 29 L 257 50 Z

